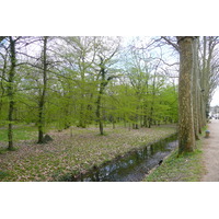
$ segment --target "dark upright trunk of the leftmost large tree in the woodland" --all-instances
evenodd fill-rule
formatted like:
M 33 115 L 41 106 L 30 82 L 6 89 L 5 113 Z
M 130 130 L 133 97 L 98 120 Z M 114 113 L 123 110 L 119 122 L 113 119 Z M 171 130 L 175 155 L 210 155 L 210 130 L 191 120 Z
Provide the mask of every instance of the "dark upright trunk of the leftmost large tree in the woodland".
M 12 36 L 10 38 L 10 51 L 11 51 L 11 68 L 9 71 L 9 85 L 8 85 L 8 96 L 9 96 L 9 115 L 8 115 L 8 120 L 9 120 L 9 127 L 8 127 L 8 140 L 9 140 L 9 150 L 13 150 L 13 127 L 12 127 L 12 122 L 13 122 L 13 110 L 14 110 L 14 74 L 15 74 L 15 62 L 16 62 L 16 57 L 15 57 L 15 41 L 13 41 Z

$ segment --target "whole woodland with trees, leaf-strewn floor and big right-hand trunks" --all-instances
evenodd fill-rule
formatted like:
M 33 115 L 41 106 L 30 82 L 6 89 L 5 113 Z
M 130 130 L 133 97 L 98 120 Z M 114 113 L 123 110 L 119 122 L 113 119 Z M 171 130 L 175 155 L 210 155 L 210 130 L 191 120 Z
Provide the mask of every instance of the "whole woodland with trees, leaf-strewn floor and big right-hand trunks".
M 218 44 L 217 36 L 1 36 L 0 175 L 54 181 L 173 132 L 178 153 L 193 152 L 219 82 Z

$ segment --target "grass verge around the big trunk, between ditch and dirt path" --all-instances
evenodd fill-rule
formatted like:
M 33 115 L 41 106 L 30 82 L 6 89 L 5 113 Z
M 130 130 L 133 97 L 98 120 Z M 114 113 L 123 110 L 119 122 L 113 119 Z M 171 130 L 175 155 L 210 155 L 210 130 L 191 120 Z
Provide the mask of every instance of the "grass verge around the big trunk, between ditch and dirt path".
M 149 174 L 146 182 L 199 182 L 205 173 L 201 140 L 191 153 L 177 154 L 177 149 L 165 159 L 157 170 Z

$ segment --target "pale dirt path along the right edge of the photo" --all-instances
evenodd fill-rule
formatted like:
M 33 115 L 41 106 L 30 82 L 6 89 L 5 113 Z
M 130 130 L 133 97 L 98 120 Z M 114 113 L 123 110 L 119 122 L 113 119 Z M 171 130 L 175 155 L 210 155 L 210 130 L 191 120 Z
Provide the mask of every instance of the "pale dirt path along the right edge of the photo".
M 219 119 L 208 124 L 209 138 L 204 139 L 204 162 L 206 174 L 203 182 L 219 182 Z

